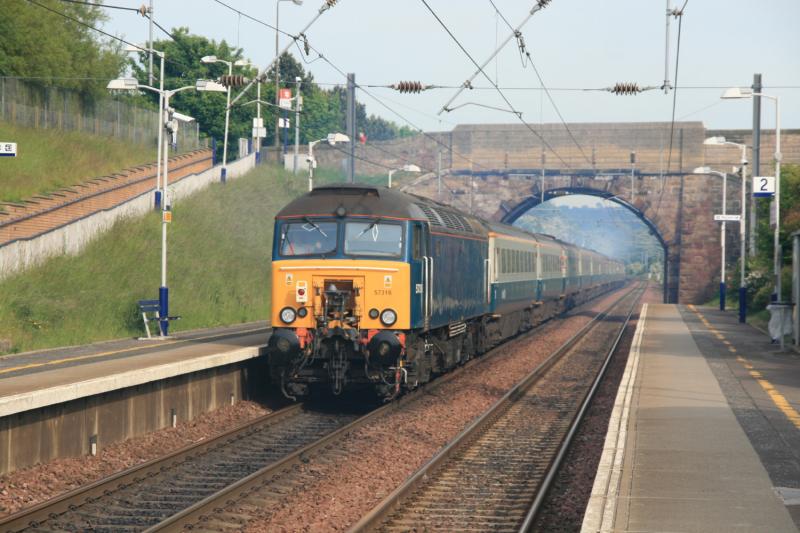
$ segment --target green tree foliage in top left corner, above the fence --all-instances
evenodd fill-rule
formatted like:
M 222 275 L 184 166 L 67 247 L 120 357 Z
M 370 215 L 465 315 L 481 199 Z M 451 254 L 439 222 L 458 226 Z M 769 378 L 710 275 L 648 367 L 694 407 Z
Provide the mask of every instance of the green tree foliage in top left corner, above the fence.
M 100 7 L 39 0 L 91 26 L 105 19 Z M 0 16 L 0 76 L 21 76 L 40 87 L 57 85 L 91 102 L 125 64 L 117 43 L 24 0 L 4 0 Z M 60 79 L 55 79 L 60 78 Z

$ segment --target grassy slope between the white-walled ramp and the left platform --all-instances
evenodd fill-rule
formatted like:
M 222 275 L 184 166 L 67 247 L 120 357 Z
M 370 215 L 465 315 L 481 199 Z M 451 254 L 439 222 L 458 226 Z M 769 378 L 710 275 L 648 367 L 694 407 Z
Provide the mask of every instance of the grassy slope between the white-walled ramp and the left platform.
M 325 171 L 316 177 L 341 180 Z M 307 183 L 264 165 L 176 203 L 168 284 L 170 312 L 183 318 L 174 330 L 268 318 L 273 217 Z M 160 254 L 160 217 L 151 213 L 120 221 L 79 256 L 0 282 L 0 339 L 28 351 L 142 334 L 136 301 L 157 297 Z

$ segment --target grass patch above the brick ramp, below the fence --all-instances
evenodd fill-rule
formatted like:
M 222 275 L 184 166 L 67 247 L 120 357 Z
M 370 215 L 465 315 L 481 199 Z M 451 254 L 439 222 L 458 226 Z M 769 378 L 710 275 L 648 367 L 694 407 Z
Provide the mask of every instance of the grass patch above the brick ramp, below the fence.
M 8 122 L 0 122 L 0 141 L 16 142 L 18 154 L 0 158 L 0 202 L 19 202 L 156 160 L 155 147 Z

